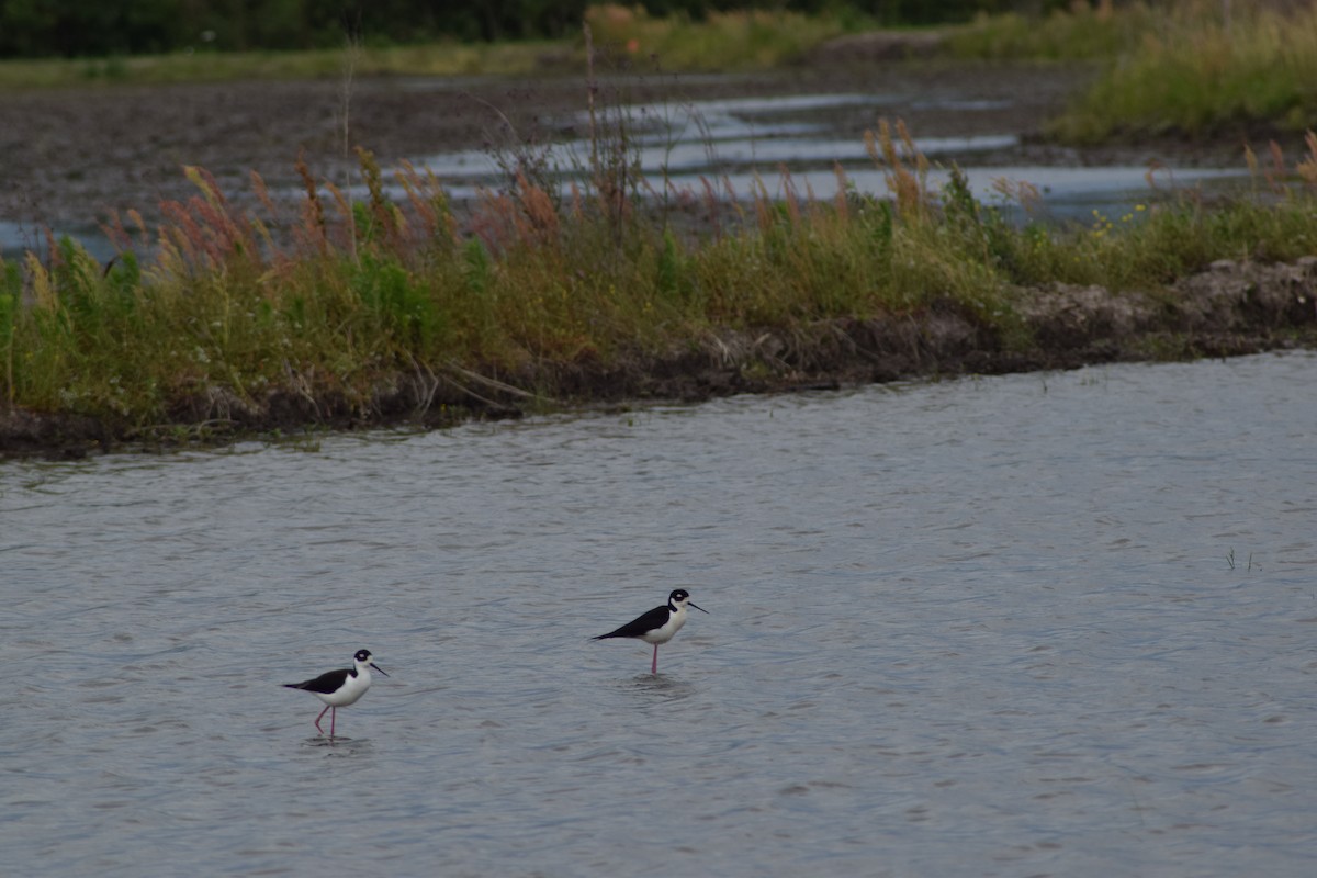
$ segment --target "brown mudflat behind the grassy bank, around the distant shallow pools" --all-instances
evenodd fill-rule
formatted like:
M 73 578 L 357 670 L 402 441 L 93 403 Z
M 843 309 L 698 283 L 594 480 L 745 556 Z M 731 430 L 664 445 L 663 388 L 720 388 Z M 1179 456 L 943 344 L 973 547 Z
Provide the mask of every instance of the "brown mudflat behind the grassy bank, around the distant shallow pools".
M 1018 147 L 955 157 L 961 166 L 1114 165 L 1163 161 L 1179 166 L 1241 165 L 1238 138 L 1217 142 L 1076 150 L 1042 142 L 1048 116 L 1081 88 L 1083 67 L 890 62 L 856 53 L 819 51 L 795 67 L 756 75 L 605 72 L 595 99 L 636 101 L 877 93 L 884 116 L 902 118 L 917 137 L 1021 134 Z M 317 178 L 344 182 L 353 150 L 373 151 L 385 167 L 453 149 L 508 149 L 573 133 L 585 111 L 585 71 L 539 79 L 341 78 L 308 82 L 232 82 L 0 93 L 0 220 L 17 222 L 40 245 L 41 229 L 87 228 L 112 209 L 148 221 L 162 200 L 196 194 L 182 167 L 208 170 L 236 203 L 253 197 L 250 172 L 271 190 L 295 192 L 302 155 Z M 957 107 L 976 107 L 963 112 Z M 827 124 L 863 137 L 872 107 L 830 108 Z M 574 132 L 577 136 L 581 132 Z M 768 168 L 773 170 L 773 168 Z M 25 234 L 25 237 L 28 237 Z

